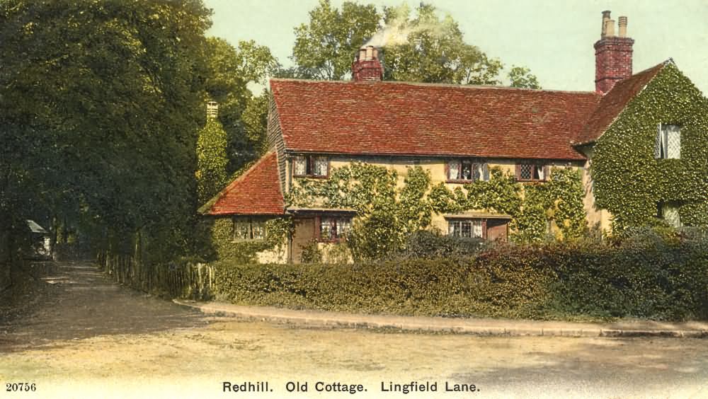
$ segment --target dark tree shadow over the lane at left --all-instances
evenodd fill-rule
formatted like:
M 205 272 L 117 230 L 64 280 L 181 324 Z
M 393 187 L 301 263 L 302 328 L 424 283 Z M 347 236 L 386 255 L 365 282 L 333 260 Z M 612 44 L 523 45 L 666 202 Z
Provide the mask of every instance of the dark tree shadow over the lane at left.
M 198 311 L 121 287 L 91 262 L 40 262 L 0 296 L 0 352 L 205 323 Z

